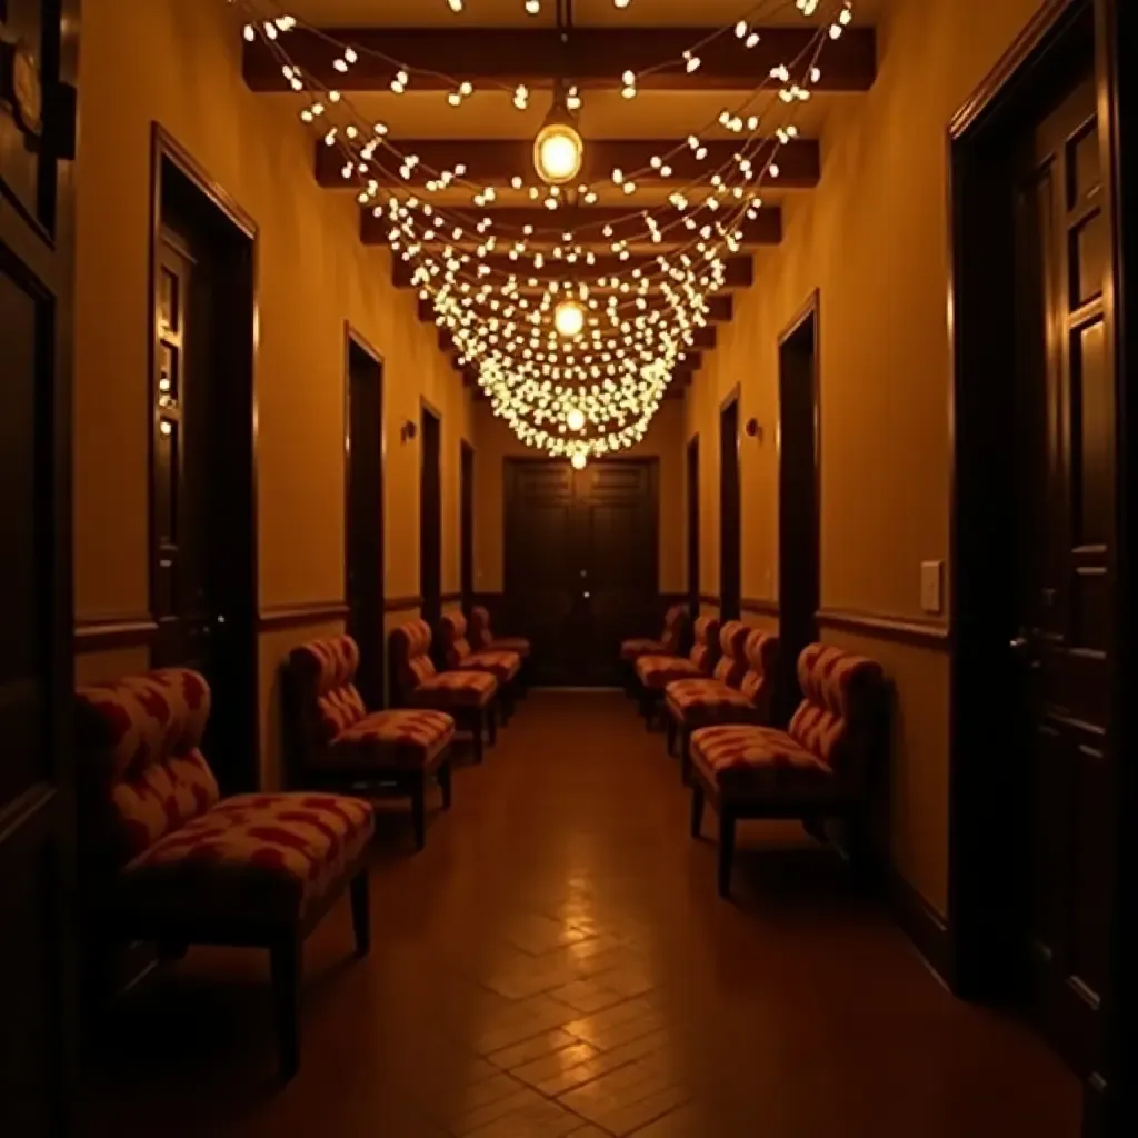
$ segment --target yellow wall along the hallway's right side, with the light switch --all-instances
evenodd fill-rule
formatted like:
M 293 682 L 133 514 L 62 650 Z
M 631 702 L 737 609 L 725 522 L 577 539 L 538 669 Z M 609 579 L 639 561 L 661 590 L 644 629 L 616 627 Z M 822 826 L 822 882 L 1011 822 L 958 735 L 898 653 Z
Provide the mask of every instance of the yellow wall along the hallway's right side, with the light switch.
M 686 401 L 701 438 L 703 591 L 717 591 L 718 406 L 742 385 L 743 595 L 777 595 L 777 338 L 820 290 L 822 603 L 920 618 L 920 566 L 949 539 L 948 122 L 1038 0 L 887 5 L 873 90 L 836 102 L 817 190 L 736 296 Z M 822 59 L 825 67 L 825 57 Z M 947 578 L 946 578 L 947 579 Z M 947 619 L 947 618 L 946 618 Z M 863 636 L 897 684 L 892 843 L 941 912 L 948 889 L 948 658 Z

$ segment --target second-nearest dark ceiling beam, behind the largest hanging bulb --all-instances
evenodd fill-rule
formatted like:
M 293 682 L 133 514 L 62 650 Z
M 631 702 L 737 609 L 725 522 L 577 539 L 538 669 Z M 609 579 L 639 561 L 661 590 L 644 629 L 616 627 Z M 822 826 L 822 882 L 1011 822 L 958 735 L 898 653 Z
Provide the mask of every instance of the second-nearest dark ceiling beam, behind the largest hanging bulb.
M 643 171 L 636 176 L 637 185 L 682 190 L 690 183 L 710 182 L 711 175 L 721 166 L 733 167 L 734 156 L 742 152 L 741 142 L 741 139 L 712 139 L 707 142 L 707 157 L 700 162 L 692 148 L 682 140 L 586 139 L 580 184 L 599 185 L 607 182 L 612 178 L 613 170 L 622 171 L 627 178 Z M 516 175 L 525 179 L 527 185 L 537 184 L 538 181 L 534 173 L 530 139 L 393 139 L 391 146 L 399 155 L 419 156 L 420 167 L 424 173 L 414 187 L 398 176 L 399 159 L 385 149 L 377 151 L 365 174 L 356 171 L 351 178 L 345 178 L 343 151 L 339 147 L 325 146 L 323 141 L 316 142 L 316 181 L 329 189 L 356 190 L 371 180 L 386 187 L 418 187 L 417 192 L 421 192 L 421 182 L 430 176 L 426 171 L 442 173 L 460 165 L 467 167 L 463 175 L 467 181 L 479 187 L 492 185 L 496 190 L 504 190 Z M 677 146 L 682 149 L 671 158 L 665 159 L 665 155 Z M 756 174 L 774 149 L 775 145 L 766 140 L 749 151 Z M 653 157 L 659 157 L 671 166 L 671 178 L 660 178 L 651 170 Z M 794 139 L 778 147 L 774 160 L 778 167 L 778 176 L 765 179 L 762 190 L 808 190 L 818 184 L 822 157 L 816 139 Z M 630 208 L 635 209 L 633 198 L 629 198 L 629 203 Z M 472 215 L 481 215 L 480 207 L 472 201 L 465 208 Z M 559 211 L 543 207 L 542 212 L 546 217 L 545 225 L 559 224 Z M 628 213 L 628 209 L 624 212 Z

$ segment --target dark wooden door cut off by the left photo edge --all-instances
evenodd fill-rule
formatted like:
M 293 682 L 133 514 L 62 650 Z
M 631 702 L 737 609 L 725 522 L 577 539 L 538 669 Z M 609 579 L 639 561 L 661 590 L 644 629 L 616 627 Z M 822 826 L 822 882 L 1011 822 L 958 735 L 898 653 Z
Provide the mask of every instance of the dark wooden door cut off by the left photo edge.
M 20 1138 L 65 1127 L 75 1023 L 77 33 L 77 3 L 0 0 L 0 1133 Z

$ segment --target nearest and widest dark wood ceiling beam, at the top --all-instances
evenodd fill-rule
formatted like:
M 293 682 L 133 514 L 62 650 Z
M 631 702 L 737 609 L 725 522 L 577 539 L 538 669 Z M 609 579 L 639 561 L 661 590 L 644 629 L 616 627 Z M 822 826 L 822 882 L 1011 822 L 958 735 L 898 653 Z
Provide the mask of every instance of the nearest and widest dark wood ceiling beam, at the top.
M 769 82 L 770 69 L 809 58 L 816 27 L 759 27 L 761 39 L 748 50 L 734 35 L 719 35 L 699 51 L 700 67 L 688 73 L 683 53 L 711 27 L 578 27 L 568 44 L 553 28 L 518 27 L 365 27 L 297 28 L 279 46 L 318 83 L 340 91 L 387 91 L 399 67 L 413 71 L 409 91 L 443 91 L 448 81 L 497 85 L 550 86 L 552 76 L 569 75 L 583 89 L 617 88 L 626 71 L 674 64 L 640 77 L 642 91 L 750 91 Z M 332 41 L 353 47 L 358 59 L 340 73 Z M 380 52 L 379 58 L 371 52 Z M 872 27 L 848 27 L 827 41 L 819 59 L 818 91 L 867 91 L 876 74 L 876 38 Z M 245 81 L 254 91 L 283 91 L 280 60 L 258 38 L 245 46 Z M 426 72 L 429 74 L 420 74 Z M 443 76 L 446 76 L 445 79 Z M 800 76 L 794 76 L 800 77 Z M 445 113 L 445 110 L 444 110 Z

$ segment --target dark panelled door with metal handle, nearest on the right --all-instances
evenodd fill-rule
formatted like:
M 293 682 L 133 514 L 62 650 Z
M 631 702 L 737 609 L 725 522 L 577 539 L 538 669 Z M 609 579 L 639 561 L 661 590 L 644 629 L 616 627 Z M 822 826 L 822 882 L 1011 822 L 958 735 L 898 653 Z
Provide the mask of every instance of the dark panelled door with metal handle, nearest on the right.
M 1114 620 L 1114 378 L 1095 89 L 1025 140 L 1016 200 L 1016 517 L 1022 997 L 1096 1069 L 1110 904 L 1107 649 Z

